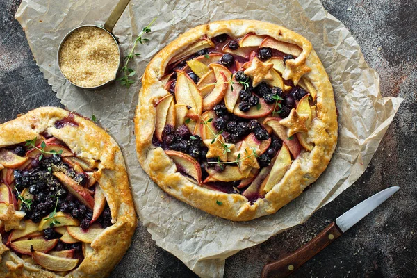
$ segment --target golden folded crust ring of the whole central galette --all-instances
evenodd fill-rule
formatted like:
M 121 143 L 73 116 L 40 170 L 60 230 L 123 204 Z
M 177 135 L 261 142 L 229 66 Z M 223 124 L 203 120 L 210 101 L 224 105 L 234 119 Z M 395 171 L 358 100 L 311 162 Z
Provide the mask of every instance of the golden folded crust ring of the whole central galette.
M 246 197 L 227 194 L 198 186 L 177 172 L 172 160 L 163 149 L 152 145 L 152 134 L 156 122 L 154 103 L 167 95 L 160 81 L 165 67 L 172 57 L 186 49 L 196 40 L 207 36 L 227 33 L 232 38 L 240 38 L 247 33 L 268 35 L 279 42 L 296 44 L 302 53 L 294 60 L 286 61 L 284 79 L 295 84 L 301 77 L 309 80 L 317 90 L 317 117 L 311 123 L 309 142 L 314 144 L 311 152 L 302 152 L 284 177 L 263 199 L 251 204 Z M 337 141 L 337 116 L 333 88 L 320 59 L 311 43 L 301 35 L 284 27 L 254 20 L 228 20 L 197 26 L 167 45 L 149 63 L 142 78 L 142 89 L 136 109 L 136 147 L 142 168 L 165 192 L 183 202 L 221 218 L 245 221 L 262 215 L 275 213 L 302 193 L 306 186 L 316 181 L 332 158 Z M 222 202 L 219 206 L 216 201 Z

